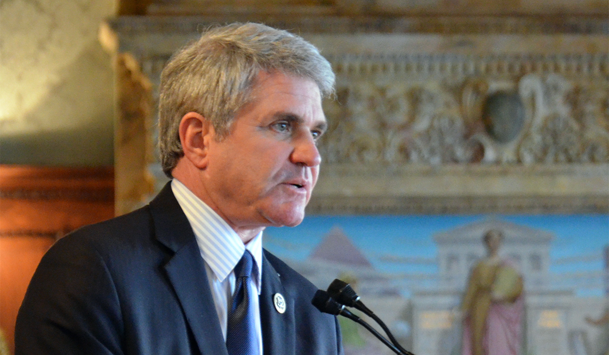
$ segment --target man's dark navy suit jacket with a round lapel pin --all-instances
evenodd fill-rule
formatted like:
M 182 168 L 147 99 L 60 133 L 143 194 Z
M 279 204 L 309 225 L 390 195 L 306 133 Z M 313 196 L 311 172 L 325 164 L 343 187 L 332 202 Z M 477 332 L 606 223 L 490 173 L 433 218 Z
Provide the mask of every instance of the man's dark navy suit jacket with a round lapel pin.
M 342 354 L 336 317 L 311 305 L 317 289 L 268 251 L 262 259 L 264 355 Z M 16 355 L 227 355 L 213 302 L 167 184 L 144 208 L 74 231 L 46 253 L 19 309 Z

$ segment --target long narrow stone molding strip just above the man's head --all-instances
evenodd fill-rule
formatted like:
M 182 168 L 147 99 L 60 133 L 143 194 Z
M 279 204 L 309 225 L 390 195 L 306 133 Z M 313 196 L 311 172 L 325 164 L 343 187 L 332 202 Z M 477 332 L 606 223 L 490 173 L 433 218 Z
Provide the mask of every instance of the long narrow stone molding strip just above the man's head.
M 607 16 L 120 16 L 109 21 L 121 37 L 143 33 L 199 33 L 213 24 L 255 21 L 306 33 L 554 34 L 609 33 Z

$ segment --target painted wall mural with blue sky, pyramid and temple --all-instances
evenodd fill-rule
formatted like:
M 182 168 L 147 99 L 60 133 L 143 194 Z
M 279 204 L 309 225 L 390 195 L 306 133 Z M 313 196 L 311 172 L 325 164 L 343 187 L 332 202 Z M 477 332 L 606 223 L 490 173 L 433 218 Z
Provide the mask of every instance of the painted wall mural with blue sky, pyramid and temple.
M 503 234 L 501 262 L 487 264 L 504 269 L 493 272 L 481 270 L 490 230 Z M 600 355 L 609 334 L 608 235 L 609 218 L 602 214 L 311 216 L 295 228 L 268 228 L 264 242 L 321 289 L 334 278 L 351 283 L 415 354 L 462 354 L 464 342 L 471 348 L 475 331 L 463 336 L 465 291 L 473 279 L 484 284 L 499 274 L 492 287 L 505 299 L 493 300 L 482 320 L 507 317 L 512 335 L 485 339 L 491 345 L 484 346 L 527 355 Z M 485 303 L 469 297 L 478 309 Z M 342 325 L 346 354 L 392 354 L 356 323 L 345 318 Z

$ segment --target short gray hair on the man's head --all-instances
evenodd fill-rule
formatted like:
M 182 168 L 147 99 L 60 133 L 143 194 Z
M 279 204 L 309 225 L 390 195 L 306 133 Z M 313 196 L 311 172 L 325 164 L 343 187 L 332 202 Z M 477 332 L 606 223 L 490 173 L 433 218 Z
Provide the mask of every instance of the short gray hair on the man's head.
M 311 79 L 324 98 L 334 93 L 330 63 L 303 38 L 256 23 L 211 27 L 176 52 L 161 73 L 158 148 L 168 177 L 184 155 L 181 118 L 199 113 L 224 138 L 234 114 L 251 99 L 260 71 Z

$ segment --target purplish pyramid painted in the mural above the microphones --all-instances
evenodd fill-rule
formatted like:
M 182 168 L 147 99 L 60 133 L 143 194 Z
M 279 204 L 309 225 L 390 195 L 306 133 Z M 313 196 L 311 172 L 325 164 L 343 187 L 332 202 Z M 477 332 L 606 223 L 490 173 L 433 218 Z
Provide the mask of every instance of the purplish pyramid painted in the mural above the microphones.
M 309 260 L 333 262 L 351 267 L 372 267 L 370 261 L 340 227 L 333 227 L 326 234 L 323 241 L 309 255 Z

